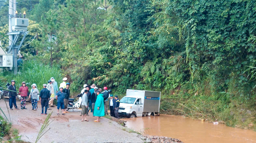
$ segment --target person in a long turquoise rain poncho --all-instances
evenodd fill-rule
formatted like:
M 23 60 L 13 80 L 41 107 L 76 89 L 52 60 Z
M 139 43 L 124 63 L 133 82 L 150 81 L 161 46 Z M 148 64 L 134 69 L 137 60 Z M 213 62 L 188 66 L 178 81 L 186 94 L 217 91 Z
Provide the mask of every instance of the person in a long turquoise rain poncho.
M 104 101 L 103 101 L 103 94 L 100 94 L 101 91 L 97 91 L 97 100 L 95 102 L 93 116 L 97 116 L 97 120 L 94 122 L 100 122 L 101 116 L 104 116 Z

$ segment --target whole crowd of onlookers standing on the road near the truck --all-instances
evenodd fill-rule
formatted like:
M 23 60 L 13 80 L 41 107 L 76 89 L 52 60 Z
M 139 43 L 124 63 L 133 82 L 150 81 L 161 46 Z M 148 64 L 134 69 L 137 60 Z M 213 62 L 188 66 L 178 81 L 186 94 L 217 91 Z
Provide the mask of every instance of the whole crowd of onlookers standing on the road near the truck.
M 31 99 L 32 108 L 31 110 L 37 110 L 38 99 L 41 103 L 41 115 L 47 115 L 47 110 L 52 110 L 54 100 L 57 101 L 57 115 L 59 114 L 59 109 L 62 110 L 62 115 L 65 113 L 69 113 L 67 111 L 70 97 L 70 83 L 67 82 L 67 77 L 64 77 L 63 82 L 60 83 L 58 88 L 58 83 L 55 81 L 53 77 L 48 80 L 48 84 L 43 84 L 43 89 L 39 92 L 37 89 L 37 85 L 33 83 L 31 85 L 32 89 L 29 92 L 29 88 L 26 86 L 26 82 L 22 82 L 22 85 L 19 88 L 18 96 L 20 99 L 20 107 L 21 109 L 26 108 L 26 98 Z M 88 86 L 84 85 L 84 88 L 81 91 L 82 95 L 82 103 L 81 108 L 82 112 L 82 122 L 88 121 L 86 116 L 89 116 L 89 109 L 93 112 L 93 116 L 96 116 L 97 119 L 94 122 L 100 122 L 101 117 L 105 114 L 108 114 L 108 106 L 110 108 L 110 115 L 116 118 L 119 118 L 118 110 L 119 110 L 119 98 L 118 96 L 114 96 L 111 94 L 111 90 L 108 90 L 107 87 L 104 87 L 103 91 L 101 88 L 97 88 L 95 84 Z M 16 103 L 17 90 L 15 86 L 15 80 L 11 81 L 11 85 L 8 86 L 9 89 L 9 106 L 10 109 L 13 110 L 13 106 L 15 109 L 18 109 Z M 38 98 L 39 96 L 39 98 Z M 109 100 L 110 98 L 110 100 Z M 109 102 L 109 105 L 108 105 Z

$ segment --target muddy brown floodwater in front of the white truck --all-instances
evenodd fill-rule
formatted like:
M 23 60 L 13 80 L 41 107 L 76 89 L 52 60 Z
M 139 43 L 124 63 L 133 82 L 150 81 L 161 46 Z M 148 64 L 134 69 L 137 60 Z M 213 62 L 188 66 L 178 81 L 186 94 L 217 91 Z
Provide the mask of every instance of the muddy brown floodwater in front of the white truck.
M 126 127 L 139 133 L 180 139 L 185 143 L 256 143 L 256 132 L 223 124 L 160 115 L 124 119 Z

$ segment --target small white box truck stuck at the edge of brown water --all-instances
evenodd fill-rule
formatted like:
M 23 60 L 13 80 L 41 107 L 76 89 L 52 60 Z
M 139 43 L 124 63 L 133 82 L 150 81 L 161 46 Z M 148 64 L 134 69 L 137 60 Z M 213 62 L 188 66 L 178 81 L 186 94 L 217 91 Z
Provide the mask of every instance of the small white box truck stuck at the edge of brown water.
M 158 115 L 161 92 L 127 89 L 120 100 L 119 116 L 128 118 Z

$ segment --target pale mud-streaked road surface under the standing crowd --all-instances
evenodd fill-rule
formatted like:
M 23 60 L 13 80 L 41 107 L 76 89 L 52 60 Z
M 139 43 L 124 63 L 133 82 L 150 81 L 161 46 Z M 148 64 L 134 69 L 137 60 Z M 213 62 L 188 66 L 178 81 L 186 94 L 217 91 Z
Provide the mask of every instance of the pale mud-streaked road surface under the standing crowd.
M 8 102 L 7 104 L 9 107 Z M 17 105 L 20 109 L 18 100 Z M 8 116 L 4 100 L 0 100 L 0 107 Z M 31 103 L 27 103 L 26 108 L 27 110 L 9 110 L 11 122 L 19 130 L 22 140 L 34 143 L 47 115 L 41 115 L 40 103 L 37 111 L 30 110 Z M 109 119 L 102 118 L 101 122 L 93 122 L 96 117 L 89 113 L 89 122 L 81 122 L 81 110 L 71 110 L 65 116 L 58 116 L 56 110 L 54 107 L 48 111 L 53 112 L 50 121 L 54 121 L 40 143 L 143 143 L 135 134 L 123 131 L 121 125 Z

